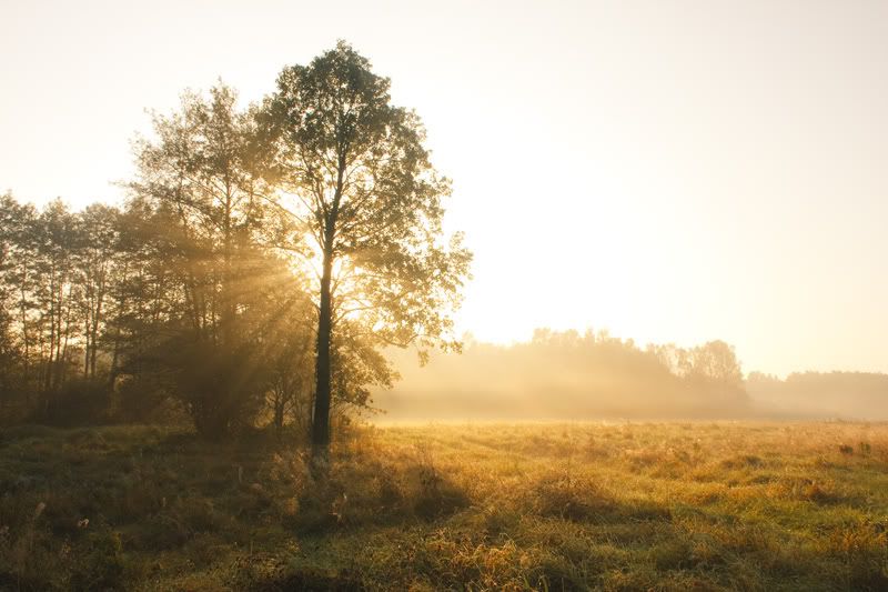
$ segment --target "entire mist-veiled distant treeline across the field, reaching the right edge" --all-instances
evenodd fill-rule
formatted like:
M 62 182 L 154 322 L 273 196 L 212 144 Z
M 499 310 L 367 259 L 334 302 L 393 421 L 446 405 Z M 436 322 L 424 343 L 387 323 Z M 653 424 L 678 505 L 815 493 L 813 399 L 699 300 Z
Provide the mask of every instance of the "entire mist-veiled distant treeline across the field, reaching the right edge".
M 538 330 L 529 342 L 471 341 L 415 368 L 375 400 L 380 421 L 888 419 L 888 374 L 753 372 L 723 341 L 639 348 L 607 332 Z

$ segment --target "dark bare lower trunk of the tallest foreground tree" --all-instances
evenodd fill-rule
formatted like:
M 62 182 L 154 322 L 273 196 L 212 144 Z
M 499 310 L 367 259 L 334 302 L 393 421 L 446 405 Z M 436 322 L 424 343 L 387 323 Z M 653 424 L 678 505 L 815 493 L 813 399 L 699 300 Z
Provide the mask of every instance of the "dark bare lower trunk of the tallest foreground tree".
M 314 417 L 312 419 L 312 461 L 323 468 L 330 456 L 330 340 L 333 308 L 330 282 L 333 272 L 333 253 L 324 250 L 321 277 L 321 310 L 317 317 L 317 350 L 315 362 Z

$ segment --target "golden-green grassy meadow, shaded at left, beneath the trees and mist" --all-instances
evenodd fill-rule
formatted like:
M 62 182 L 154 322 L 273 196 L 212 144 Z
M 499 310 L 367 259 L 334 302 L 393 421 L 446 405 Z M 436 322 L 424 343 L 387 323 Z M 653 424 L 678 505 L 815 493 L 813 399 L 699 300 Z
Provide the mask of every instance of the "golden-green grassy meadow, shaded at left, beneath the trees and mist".
M 886 590 L 888 425 L 18 428 L 0 589 Z

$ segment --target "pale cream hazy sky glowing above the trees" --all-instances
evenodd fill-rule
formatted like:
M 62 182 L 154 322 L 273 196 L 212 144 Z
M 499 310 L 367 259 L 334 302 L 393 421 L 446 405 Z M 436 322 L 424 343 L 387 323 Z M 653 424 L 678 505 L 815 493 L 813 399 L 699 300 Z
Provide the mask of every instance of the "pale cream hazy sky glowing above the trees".
M 0 191 L 114 201 L 144 109 L 343 38 L 415 108 L 478 339 L 888 371 L 888 2 L 0 0 Z

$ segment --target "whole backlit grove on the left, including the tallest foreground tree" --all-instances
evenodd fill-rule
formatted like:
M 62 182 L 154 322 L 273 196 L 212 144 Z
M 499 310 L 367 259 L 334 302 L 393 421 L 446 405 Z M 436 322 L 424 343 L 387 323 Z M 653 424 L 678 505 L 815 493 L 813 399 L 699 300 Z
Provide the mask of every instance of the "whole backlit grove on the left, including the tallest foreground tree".
M 155 113 L 122 209 L 3 197 L 0 381 L 23 413 L 178 401 L 205 435 L 292 418 L 323 452 L 331 413 L 396 378 L 382 347 L 458 349 L 471 253 L 389 89 L 340 42 L 261 104 L 220 82 Z

